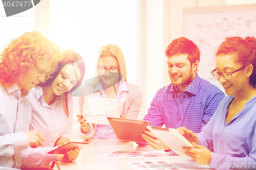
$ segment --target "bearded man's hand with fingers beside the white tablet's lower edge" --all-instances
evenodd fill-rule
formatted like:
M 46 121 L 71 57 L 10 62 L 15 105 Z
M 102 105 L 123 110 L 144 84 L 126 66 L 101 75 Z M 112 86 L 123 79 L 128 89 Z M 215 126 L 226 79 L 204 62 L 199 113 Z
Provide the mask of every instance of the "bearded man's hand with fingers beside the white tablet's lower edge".
M 159 140 L 151 131 L 145 130 L 141 135 L 153 150 L 170 150 L 169 147 Z

